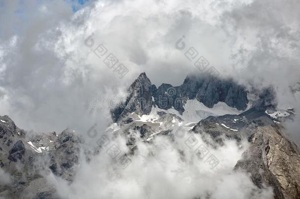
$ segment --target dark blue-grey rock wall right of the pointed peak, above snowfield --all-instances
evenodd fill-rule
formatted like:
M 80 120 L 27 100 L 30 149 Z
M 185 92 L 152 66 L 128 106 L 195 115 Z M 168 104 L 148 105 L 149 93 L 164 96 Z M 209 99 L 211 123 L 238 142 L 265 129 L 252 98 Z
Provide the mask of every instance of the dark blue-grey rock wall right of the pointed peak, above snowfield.
M 232 80 L 219 80 L 212 76 L 188 76 L 182 85 L 176 87 L 162 84 L 154 93 L 154 99 L 159 108 L 167 110 L 174 107 L 179 113 L 184 111 L 187 99 L 197 99 L 209 108 L 218 102 L 225 102 L 238 110 L 245 110 L 248 103 L 244 87 Z

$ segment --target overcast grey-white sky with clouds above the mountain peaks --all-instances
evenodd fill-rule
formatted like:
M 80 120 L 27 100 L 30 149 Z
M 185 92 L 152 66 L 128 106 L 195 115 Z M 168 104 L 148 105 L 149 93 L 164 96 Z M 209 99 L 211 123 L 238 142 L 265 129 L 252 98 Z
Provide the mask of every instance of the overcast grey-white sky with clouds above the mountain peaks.
M 39 132 L 107 124 L 109 108 L 92 110 L 91 98 L 124 96 L 144 71 L 180 85 L 201 73 L 190 47 L 221 77 L 273 85 L 279 105 L 296 106 L 299 10 L 299 0 L 0 0 L 0 114 Z M 93 53 L 100 44 L 128 69 L 122 79 Z

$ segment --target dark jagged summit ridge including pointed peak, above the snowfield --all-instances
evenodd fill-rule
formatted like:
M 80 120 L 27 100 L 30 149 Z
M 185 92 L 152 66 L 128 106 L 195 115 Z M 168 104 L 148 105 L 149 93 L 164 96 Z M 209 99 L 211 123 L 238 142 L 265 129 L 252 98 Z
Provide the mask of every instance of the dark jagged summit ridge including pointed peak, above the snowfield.
M 212 76 L 188 76 L 180 86 L 162 84 L 158 88 L 151 85 L 149 78 L 142 73 L 128 89 L 126 102 L 111 111 L 115 122 L 122 123 L 129 113 L 149 114 L 152 106 L 184 112 L 188 99 L 197 99 L 212 108 L 218 102 L 225 102 L 230 107 L 245 110 L 248 99 L 245 88 L 233 80 L 219 80 Z M 154 101 L 153 101 L 154 100 Z

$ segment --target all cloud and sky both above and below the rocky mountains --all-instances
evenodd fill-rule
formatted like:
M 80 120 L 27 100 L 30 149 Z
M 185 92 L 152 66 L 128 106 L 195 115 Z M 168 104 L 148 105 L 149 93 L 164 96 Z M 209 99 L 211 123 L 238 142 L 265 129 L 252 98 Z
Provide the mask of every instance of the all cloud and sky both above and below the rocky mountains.
M 99 96 L 116 104 L 142 72 L 156 86 L 180 85 L 186 75 L 201 73 L 184 55 L 191 47 L 221 78 L 271 85 L 278 108 L 292 106 L 300 115 L 300 99 L 289 88 L 300 82 L 299 0 L 86 1 L 0 0 L 0 115 L 18 127 L 58 133 L 69 127 L 87 135 L 97 123 L 100 132 L 112 122 L 110 107 L 92 109 L 91 101 Z M 176 47 L 180 38 L 183 50 Z M 120 79 L 95 49 L 113 54 L 128 73 Z M 297 116 L 287 128 L 298 143 L 299 123 Z M 272 198 L 270 188 L 258 189 L 248 174 L 232 170 L 248 143 L 207 146 L 221 161 L 212 171 L 175 141 L 137 139 L 126 170 L 102 150 L 90 163 L 79 161 L 72 184 L 46 177 L 66 199 Z M 124 139 L 114 142 L 128 152 Z

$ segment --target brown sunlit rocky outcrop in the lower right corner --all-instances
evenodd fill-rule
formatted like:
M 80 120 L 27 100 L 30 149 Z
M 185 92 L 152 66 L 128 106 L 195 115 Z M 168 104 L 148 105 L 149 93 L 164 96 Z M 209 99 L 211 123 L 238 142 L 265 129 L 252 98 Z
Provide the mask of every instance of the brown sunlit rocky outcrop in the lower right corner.
M 275 199 L 299 199 L 300 153 L 274 126 L 254 130 L 250 148 L 235 166 L 251 173 L 258 187 L 271 186 Z

